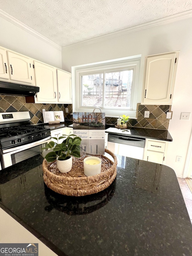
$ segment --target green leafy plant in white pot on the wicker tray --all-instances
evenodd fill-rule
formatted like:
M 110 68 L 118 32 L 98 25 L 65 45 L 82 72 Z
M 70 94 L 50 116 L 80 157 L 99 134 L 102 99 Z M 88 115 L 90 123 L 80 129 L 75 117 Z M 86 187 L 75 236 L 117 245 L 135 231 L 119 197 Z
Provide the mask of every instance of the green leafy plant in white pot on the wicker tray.
M 66 138 L 66 139 L 65 139 Z M 43 149 L 52 149 L 52 152 L 46 154 L 45 159 L 48 162 L 57 161 L 57 167 L 61 173 L 67 173 L 72 167 L 72 156 L 80 157 L 80 144 L 81 138 L 74 134 L 63 134 L 57 138 L 52 137 L 54 140 L 65 139 L 61 144 L 50 141 Z

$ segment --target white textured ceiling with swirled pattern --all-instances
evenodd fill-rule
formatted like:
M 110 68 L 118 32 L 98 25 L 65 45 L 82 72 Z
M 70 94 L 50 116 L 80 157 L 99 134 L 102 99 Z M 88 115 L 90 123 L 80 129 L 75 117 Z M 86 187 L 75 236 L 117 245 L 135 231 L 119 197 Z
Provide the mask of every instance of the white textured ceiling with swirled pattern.
M 192 9 L 192 0 L 0 0 L 0 9 L 60 46 Z

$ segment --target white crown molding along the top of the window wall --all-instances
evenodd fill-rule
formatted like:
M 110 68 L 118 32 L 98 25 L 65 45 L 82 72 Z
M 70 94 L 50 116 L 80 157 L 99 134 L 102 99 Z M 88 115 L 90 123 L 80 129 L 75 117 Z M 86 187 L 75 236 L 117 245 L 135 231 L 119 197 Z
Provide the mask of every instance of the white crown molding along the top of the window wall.
M 82 41 L 82 42 L 79 42 L 79 43 L 63 46 L 62 48 L 67 48 L 67 47 L 71 47 L 71 46 L 81 47 L 81 46 L 86 45 L 86 44 L 94 44 L 96 42 L 101 42 L 101 41 L 116 38 L 116 37 L 119 37 L 119 36 L 124 36 L 124 35 L 130 34 L 132 32 L 137 32 L 137 31 L 140 31 L 140 30 L 143 30 L 143 29 L 149 29 L 149 28 L 152 28 L 152 27 L 165 25 L 165 24 L 168 24 L 168 23 L 188 19 L 188 18 L 191 18 L 191 17 L 192 17 L 192 10 L 182 12 L 182 13 L 179 13 L 179 14 L 174 14 L 174 15 L 171 15 L 171 16 L 168 16 L 168 17 L 165 17 L 165 18 L 160 18 L 158 20 L 149 21 L 149 22 L 141 24 L 141 25 L 137 25 L 137 26 L 134 26 L 134 27 L 131 27 L 131 28 L 128 28 L 128 29 L 123 29 L 123 30 L 120 30 L 120 31 L 117 31 L 117 32 L 107 34 L 107 35 L 102 35 L 102 36 L 99 36 L 99 37 L 96 37 L 96 38 L 91 38 L 91 39 L 88 39 L 88 40 L 85 40 L 85 41 Z

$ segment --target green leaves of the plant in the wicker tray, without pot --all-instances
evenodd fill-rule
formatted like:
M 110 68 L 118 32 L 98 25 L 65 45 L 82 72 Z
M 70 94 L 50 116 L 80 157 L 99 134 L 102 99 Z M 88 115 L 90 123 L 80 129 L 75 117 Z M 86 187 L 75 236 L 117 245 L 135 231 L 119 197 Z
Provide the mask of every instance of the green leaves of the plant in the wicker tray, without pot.
M 58 160 L 66 160 L 70 156 L 74 156 L 79 158 L 80 157 L 80 144 L 81 144 L 81 138 L 74 135 L 74 134 L 63 134 L 63 136 L 60 137 L 52 137 L 52 139 L 60 140 L 65 139 L 61 144 L 58 144 L 54 141 L 50 141 L 46 147 L 42 149 L 52 149 L 52 152 L 49 152 L 46 154 L 45 159 L 48 162 L 53 162 L 57 159 Z

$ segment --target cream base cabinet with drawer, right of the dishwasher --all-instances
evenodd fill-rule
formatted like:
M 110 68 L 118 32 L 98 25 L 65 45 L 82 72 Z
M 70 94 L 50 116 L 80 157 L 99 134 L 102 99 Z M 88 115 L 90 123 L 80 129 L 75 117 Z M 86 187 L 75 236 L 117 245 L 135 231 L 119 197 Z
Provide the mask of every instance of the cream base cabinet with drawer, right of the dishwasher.
M 168 142 L 146 139 L 143 160 L 165 164 Z

